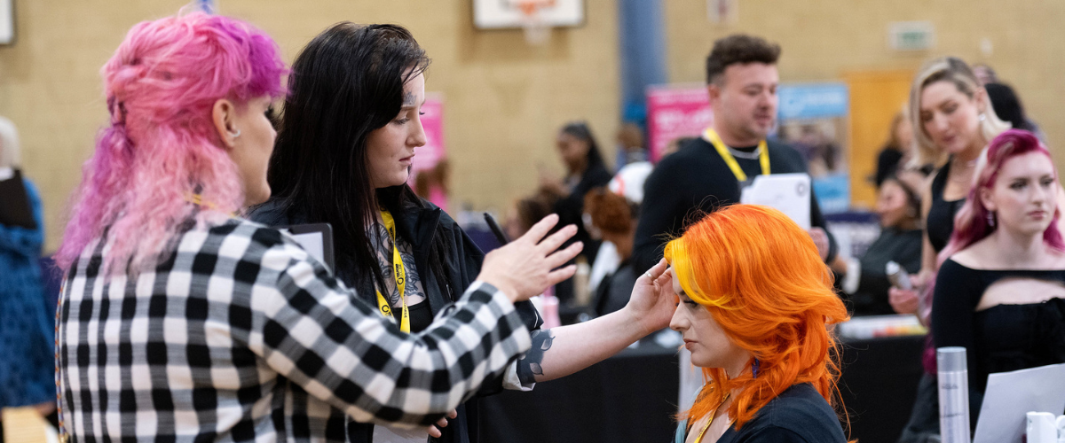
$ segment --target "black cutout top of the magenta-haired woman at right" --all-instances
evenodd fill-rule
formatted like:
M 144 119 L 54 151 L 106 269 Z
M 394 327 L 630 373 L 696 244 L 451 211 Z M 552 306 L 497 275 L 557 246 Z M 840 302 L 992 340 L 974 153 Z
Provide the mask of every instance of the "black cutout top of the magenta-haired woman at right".
M 948 259 L 936 277 L 935 345 L 966 348 L 969 396 L 977 396 L 977 405 L 987 387 L 987 374 L 1065 362 L 1065 299 L 976 310 L 987 288 L 1003 278 L 1065 284 L 1065 270 L 976 270 Z M 977 414 L 979 410 L 969 411 L 972 423 Z

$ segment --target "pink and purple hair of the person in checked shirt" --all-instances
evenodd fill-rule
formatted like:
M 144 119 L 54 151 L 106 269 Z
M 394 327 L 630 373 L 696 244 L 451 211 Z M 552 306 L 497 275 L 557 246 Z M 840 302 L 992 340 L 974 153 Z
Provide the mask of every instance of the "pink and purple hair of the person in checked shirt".
M 212 107 L 219 99 L 242 106 L 283 96 L 286 68 L 262 31 L 192 13 L 137 23 L 100 73 L 111 124 L 82 167 L 56 262 L 68 270 L 111 232 L 105 272 L 135 273 L 189 222 L 217 222 L 241 209 L 240 175 Z M 213 207 L 189 203 L 193 193 Z

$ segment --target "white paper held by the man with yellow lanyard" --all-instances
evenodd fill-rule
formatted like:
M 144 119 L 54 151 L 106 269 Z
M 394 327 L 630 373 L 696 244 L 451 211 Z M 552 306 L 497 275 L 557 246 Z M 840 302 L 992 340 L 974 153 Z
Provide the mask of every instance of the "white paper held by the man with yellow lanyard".
M 770 206 L 809 231 L 809 186 L 804 173 L 755 175 L 754 183 L 743 188 L 740 203 Z

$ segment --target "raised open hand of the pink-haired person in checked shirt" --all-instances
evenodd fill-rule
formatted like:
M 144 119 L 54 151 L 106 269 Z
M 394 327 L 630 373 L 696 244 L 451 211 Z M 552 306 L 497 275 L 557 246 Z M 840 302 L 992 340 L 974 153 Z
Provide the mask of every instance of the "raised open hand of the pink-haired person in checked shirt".
M 510 301 L 521 302 L 573 276 L 575 265 L 556 268 L 576 257 L 584 245 L 578 241 L 564 250 L 558 249 L 577 233 L 574 225 L 544 238 L 557 223 L 558 216 L 544 217 L 525 235 L 488 253 L 477 279 L 498 288 Z

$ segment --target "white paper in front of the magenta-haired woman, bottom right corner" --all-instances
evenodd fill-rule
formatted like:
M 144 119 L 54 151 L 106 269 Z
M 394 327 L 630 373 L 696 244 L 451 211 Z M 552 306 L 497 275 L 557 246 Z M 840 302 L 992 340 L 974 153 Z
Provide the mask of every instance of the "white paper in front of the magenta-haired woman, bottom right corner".
M 972 443 L 1020 443 L 1028 411 L 1065 410 L 1065 363 L 987 377 Z

